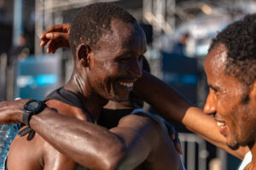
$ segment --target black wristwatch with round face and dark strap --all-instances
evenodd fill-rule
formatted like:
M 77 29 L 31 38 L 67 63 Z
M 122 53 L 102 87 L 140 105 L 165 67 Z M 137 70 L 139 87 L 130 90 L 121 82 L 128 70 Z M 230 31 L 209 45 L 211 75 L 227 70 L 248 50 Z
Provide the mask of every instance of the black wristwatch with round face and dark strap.
M 22 114 L 22 122 L 30 127 L 29 121 L 33 115 L 37 115 L 44 110 L 46 105 L 43 101 L 32 99 L 24 105 L 24 112 Z

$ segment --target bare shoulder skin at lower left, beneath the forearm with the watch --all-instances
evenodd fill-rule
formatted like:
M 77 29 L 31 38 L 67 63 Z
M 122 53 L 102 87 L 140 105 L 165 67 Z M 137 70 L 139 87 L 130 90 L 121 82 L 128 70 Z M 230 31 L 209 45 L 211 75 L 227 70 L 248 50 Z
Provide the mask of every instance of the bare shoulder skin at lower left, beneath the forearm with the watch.
M 10 170 L 84 169 L 55 150 L 38 133 L 16 136 L 9 150 L 7 166 Z

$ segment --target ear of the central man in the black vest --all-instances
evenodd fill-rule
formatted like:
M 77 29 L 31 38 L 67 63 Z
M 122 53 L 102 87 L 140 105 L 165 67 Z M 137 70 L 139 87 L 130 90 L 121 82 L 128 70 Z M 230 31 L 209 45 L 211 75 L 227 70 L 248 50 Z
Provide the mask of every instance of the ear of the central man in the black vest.
M 90 47 L 84 43 L 79 44 L 77 47 L 77 59 L 82 62 L 82 65 L 89 66 L 88 54 L 90 53 Z

